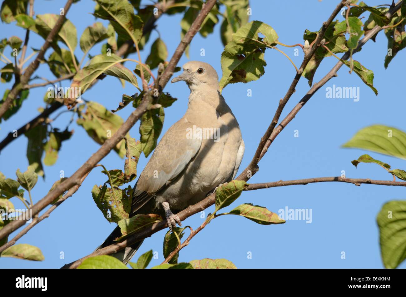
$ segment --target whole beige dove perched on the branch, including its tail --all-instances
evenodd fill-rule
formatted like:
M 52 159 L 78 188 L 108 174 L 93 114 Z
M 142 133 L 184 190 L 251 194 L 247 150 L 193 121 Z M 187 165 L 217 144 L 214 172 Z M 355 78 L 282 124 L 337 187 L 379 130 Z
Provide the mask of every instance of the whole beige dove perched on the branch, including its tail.
M 181 226 L 174 211 L 203 200 L 232 181 L 244 155 L 244 141 L 233 112 L 220 94 L 216 70 L 205 62 L 189 61 L 171 83 L 184 81 L 190 89 L 188 108 L 162 136 L 134 186 L 130 217 L 161 211 L 170 230 Z M 121 236 L 117 227 L 97 249 Z M 113 254 L 124 264 L 142 241 Z

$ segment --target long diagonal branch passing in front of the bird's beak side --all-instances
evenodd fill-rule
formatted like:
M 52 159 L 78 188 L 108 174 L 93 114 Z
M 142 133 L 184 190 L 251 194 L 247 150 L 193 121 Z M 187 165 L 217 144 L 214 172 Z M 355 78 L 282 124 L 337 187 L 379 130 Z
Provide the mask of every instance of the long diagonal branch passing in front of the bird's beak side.
M 162 76 L 158 78 L 159 87 L 161 89 L 163 89 L 168 82 L 184 50 L 186 49 L 190 41 L 192 41 L 194 35 L 199 31 L 201 24 L 203 23 L 205 17 L 208 15 L 209 11 L 212 9 L 215 3 L 216 0 L 208 0 L 205 4 L 203 4 L 199 15 L 194 20 L 192 26 L 190 26 L 190 29 L 188 30 L 182 41 L 179 43 L 164 73 L 162 73 Z M 151 101 L 152 92 L 146 92 L 143 97 L 143 101 L 140 103 L 138 108 L 132 112 L 132 114 L 127 118 L 123 125 L 121 125 L 117 132 L 114 133 L 114 135 L 110 139 L 106 140 L 106 142 L 104 142 L 99 150 L 97 150 L 97 152 L 94 153 L 71 177 L 60 183 L 54 190 L 52 190 L 44 198 L 42 198 L 32 206 L 32 215 L 36 215 L 37 213 L 39 213 L 58 196 L 69 190 L 71 187 L 80 185 L 82 177 L 88 174 L 90 170 L 94 168 L 96 164 L 101 159 L 103 159 L 117 145 L 119 141 L 124 138 L 125 134 L 127 134 L 130 128 L 136 123 L 136 121 L 138 121 L 138 119 L 144 114 L 144 112 L 147 111 L 147 108 Z M 20 217 L 20 220 L 14 220 L 13 222 L 10 222 L 6 226 L 4 226 L 0 230 L 0 239 L 24 225 L 25 222 L 26 220 L 23 220 L 22 217 Z

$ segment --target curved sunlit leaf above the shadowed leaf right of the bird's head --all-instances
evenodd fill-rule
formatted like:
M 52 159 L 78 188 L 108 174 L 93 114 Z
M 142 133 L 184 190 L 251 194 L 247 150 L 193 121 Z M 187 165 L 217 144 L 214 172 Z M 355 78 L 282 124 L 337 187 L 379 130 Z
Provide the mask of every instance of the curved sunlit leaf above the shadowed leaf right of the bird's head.
M 259 37 L 258 34 L 262 34 L 264 37 Z M 257 47 L 263 47 L 264 44 L 276 45 L 275 42 L 278 41 L 278 34 L 276 34 L 275 30 L 259 21 L 245 24 L 232 37 L 235 43 L 254 44 Z

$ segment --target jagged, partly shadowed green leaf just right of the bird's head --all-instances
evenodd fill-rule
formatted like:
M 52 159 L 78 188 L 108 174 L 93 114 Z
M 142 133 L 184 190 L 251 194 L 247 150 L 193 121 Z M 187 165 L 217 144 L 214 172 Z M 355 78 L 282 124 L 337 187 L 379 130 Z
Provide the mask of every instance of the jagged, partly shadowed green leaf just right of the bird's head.
M 232 53 L 231 53 L 232 52 Z M 238 46 L 234 41 L 227 44 L 221 54 L 220 92 L 227 84 L 258 80 L 265 73 L 264 48 Z

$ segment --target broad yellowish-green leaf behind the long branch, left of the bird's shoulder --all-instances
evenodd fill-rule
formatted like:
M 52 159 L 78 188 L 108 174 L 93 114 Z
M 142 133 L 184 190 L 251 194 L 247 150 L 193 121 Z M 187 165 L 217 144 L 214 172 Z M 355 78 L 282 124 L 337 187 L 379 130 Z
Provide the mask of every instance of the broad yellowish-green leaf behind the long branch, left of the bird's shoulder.
M 76 123 L 81 125 L 95 142 L 104 144 L 123 125 L 124 121 L 121 116 L 109 112 L 97 102 L 89 101 L 86 105 L 86 112 L 80 114 Z M 130 136 L 127 134 L 126 137 Z M 114 147 L 114 151 L 121 158 L 125 156 L 124 140 L 121 140 Z

